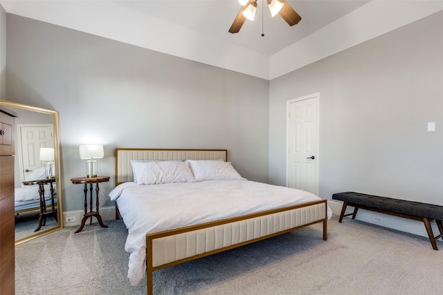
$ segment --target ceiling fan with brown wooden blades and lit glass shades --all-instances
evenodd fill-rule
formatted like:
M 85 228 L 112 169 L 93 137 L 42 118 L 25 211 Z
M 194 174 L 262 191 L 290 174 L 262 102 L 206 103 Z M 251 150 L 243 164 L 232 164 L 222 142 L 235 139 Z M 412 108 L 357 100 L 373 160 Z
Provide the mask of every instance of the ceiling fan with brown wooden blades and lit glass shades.
M 246 19 L 253 21 L 255 18 L 255 12 L 257 12 L 257 0 L 238 0 L 238 2 L 242 8 L 238 12 L 237 17 L 235 17 L 234 22 L 228 31 L 233 34 L 239 32 Z M 296 10 L 293 10 L 285 0 L 267 0 L 267 2 L 269 10 L 271 11 L 271 16 L 274 17 L 277 14 L 280 15 L 289 26 L 297 24 L 298 21 L 302 19 Z

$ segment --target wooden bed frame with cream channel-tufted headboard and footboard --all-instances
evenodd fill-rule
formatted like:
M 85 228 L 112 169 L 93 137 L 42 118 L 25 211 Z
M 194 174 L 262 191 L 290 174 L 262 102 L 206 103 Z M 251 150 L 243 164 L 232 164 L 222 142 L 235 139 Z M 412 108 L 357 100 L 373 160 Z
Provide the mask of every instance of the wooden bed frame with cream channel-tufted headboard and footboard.
M 134 181 L 131 160 L 227 161 L 227 159 L 227 150 L 116 149 L 116 186 L 123 182 Z M 117 207 L 116 218 L 118 218 Z M 153 294 L 152 273 L 158 269 L 271 238 L 319 222 L 323 222 L 323 240 L 327 240 L 326 200 L 147 234 L 147 294 Z

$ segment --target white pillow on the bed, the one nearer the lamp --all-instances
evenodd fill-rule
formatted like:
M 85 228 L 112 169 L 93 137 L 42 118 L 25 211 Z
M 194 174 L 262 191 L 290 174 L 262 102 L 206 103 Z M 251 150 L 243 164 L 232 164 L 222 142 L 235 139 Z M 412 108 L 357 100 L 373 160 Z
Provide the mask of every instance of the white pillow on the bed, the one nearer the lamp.
M 163 184 L 172 182 L 195 182 L 186 162 L 132 162 L 138 184 Z

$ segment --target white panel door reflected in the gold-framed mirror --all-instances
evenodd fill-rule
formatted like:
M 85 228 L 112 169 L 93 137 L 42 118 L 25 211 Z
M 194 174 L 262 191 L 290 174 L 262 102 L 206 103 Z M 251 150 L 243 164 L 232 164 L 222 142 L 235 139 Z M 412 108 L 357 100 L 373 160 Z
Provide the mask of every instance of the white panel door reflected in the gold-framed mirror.
M 52 124 L 23 124 L 17 126 L 19 133 L 19 163 L 21 180 L 31 171 L 44 166 L 39 160 L 41 147 L 54 147 Z

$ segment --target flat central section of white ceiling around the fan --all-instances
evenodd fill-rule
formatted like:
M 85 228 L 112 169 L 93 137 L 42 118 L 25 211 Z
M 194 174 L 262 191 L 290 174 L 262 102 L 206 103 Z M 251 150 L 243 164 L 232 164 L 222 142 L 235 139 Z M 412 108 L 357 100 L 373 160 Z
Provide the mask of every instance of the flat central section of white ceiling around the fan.
M 267 56 L 296 43 L 368 2 L 362 0 L 288 0 L 287 3 L 302 17 L 296 26 L 290 27 L 279 15 L 271 17 L 266 0 L 258 0 L 255 21 L 246 20 L 237 34 L 231 34 L 228 29 L 242 7 L 237 0 L 117 1 L 121 6 L 143 12 L 151 17 L 163 19 L 183 28 L 195 30 L 201 35 Z M 262 37 L 262 31 L 264 37 Z

